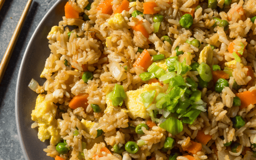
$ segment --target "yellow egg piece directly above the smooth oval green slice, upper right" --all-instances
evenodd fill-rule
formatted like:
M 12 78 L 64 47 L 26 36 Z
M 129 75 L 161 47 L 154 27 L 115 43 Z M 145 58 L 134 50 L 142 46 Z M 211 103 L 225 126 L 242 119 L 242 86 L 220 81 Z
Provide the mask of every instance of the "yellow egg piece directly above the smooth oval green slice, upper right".
M 198 63 L 201 64 L 202 62 L 208 64 L 209 66 L 212 66 L 213 64 L 213 50 L 210 47 L 210 44 L 204 47 L 199 54 Z

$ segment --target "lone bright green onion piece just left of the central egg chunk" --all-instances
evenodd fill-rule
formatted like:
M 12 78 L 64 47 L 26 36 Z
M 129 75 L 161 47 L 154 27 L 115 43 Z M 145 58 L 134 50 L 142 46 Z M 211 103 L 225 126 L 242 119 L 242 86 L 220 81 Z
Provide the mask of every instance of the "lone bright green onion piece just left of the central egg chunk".
M 115 84 L 113 91 L 107 96 L 112 100 L 113 106 L 122 106 L 123 100 L 126 98 L 123 86 L 118 84 Z

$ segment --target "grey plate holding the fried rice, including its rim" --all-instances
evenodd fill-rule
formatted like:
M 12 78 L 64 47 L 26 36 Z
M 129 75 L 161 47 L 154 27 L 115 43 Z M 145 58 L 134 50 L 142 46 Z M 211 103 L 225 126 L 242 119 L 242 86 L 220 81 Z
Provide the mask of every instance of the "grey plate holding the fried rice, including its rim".
M 49 140 L 41 142 L 37 137 L 38 129 L 31 128 L 31 112 L 35 107 L 37 94 L 28 87 L 28 84 L 32 78 L 38 81 L 39 85 L 44 82 L 40 74 L 50 54 L 46 37 L 52 26 L 58 26 L 58 22 L 62 20 L 66 2 L 67 0 L 58 0 L 43 17 L 28 43 L 18 74 L 15 115 L 18 137 L 27 160 L 53 160 L 43 151 L 49 145 Z

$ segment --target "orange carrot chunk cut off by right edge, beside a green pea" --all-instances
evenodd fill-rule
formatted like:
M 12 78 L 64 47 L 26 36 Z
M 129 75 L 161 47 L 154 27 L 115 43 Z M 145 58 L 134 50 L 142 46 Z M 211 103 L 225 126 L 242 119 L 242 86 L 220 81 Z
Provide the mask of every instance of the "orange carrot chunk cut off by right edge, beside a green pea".
M 246 108 L 250 104 L 256 104 L 256 90 L 252 90 L 251 92 L 240 92 L 236 93 L 235 95 L 238 96 L 241 100 L 241 106 L 239 107 L 240 109 Z

